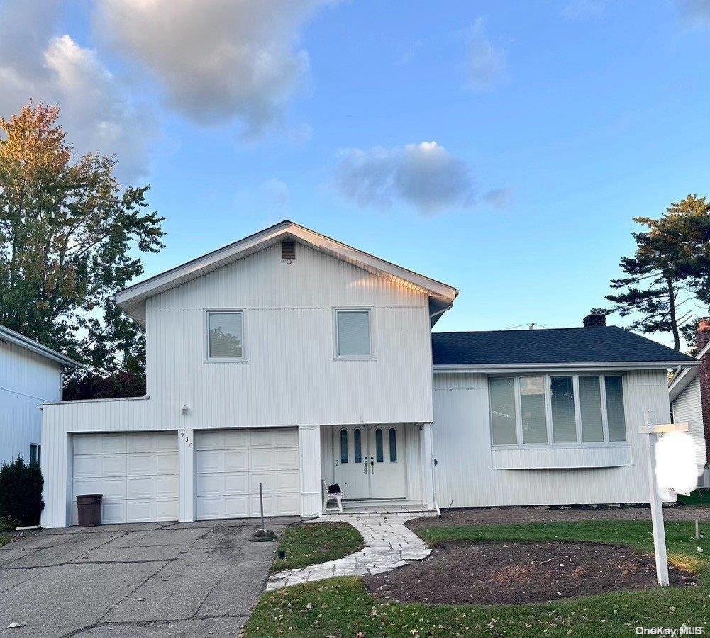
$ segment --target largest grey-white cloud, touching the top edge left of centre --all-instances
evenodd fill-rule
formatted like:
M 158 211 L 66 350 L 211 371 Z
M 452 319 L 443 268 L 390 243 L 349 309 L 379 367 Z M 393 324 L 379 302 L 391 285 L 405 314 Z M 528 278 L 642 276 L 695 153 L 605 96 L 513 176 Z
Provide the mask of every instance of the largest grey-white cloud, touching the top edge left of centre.
M 253 138 L 300 86 L 308 67 L 300 31 L 332 1 L 99 0 L 98 24 L 155 74 L 171 109 L 202 124 L 239 119 Z

